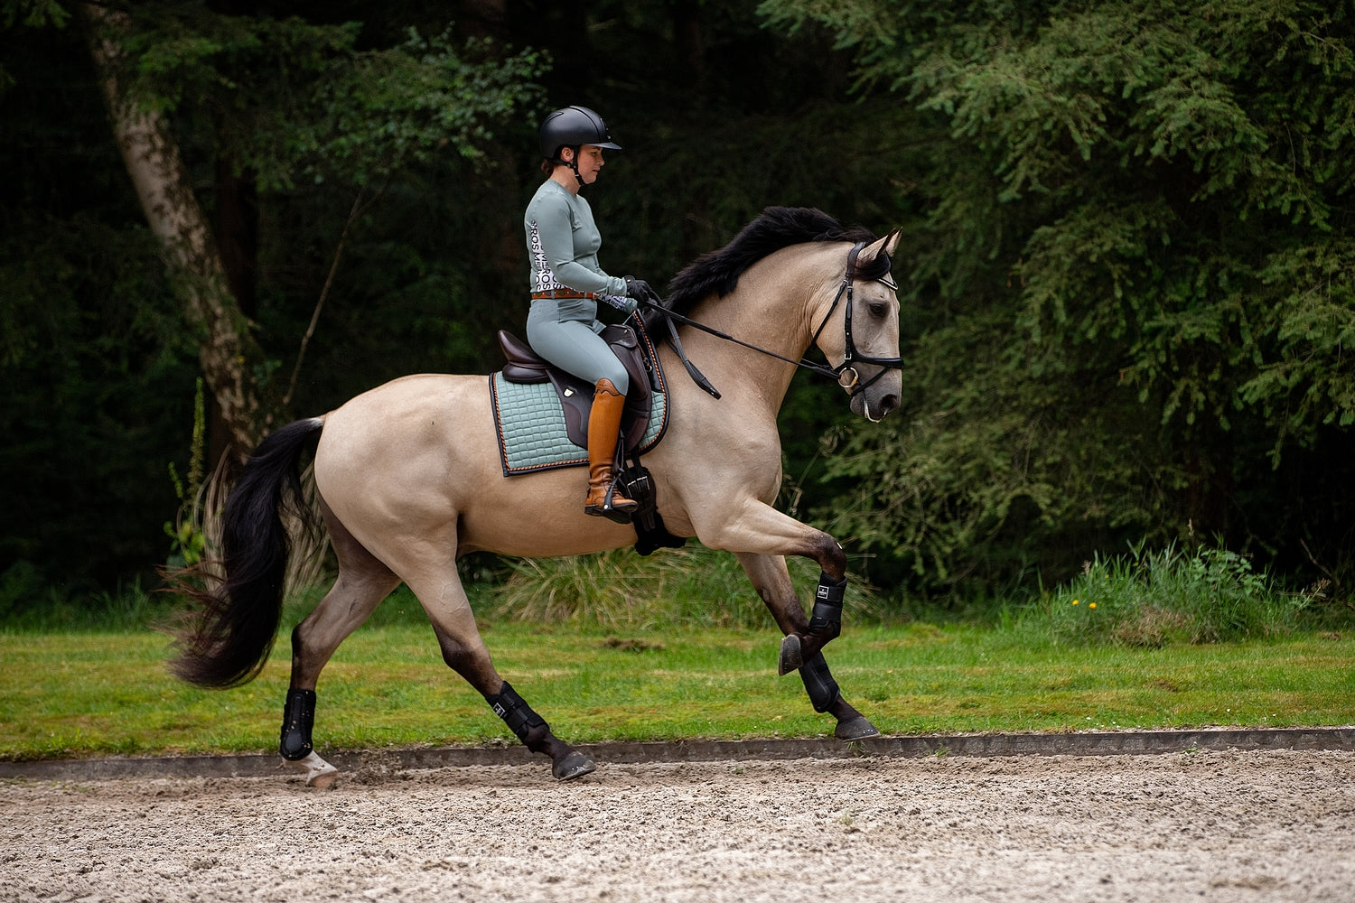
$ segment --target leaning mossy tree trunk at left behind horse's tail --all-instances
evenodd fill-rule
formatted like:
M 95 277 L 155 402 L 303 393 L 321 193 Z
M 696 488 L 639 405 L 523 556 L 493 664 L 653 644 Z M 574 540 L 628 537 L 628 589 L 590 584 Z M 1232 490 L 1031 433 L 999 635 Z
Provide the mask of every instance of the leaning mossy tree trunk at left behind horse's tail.
M 130 26 L 130 18 L 92 4 L 84 9 L 118 150 L 150 232 L 160 240 L 187 322 L 198 332 L 203 378 L 228 429 L 229 445 L 237 452 L 251 449 L 267 433 L 272 413 L 249 376 L 249 364 L 263 355 L 230 294 L 211 227 L 192 194 L 168 123 L 159 112 L 138 107 L 119 77 L 122 46 L 115 35 Z

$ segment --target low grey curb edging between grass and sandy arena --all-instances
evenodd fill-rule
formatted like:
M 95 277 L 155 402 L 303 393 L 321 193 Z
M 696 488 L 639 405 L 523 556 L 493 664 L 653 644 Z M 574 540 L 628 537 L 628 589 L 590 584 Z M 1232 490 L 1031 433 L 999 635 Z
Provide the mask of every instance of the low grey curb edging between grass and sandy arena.
M 585 743 L 599 764 L 728 762 L 867 755 L 1153 755 L 1190 750 L 1355 750 L 1355 726 L 1271 730 L 1080 731 L 1075 734 L 950 734 L 877 736 L 846 743 L 831 738 L 763 741 L 680 741 L 676 743 Z M 522 746 L 447 746 L 325 754 L 341 772 L 362 766 L 389 770 L 526 765 L 542 761 Z M 127 777 L 264 777 L 276 774 L 276 755 L 175 755 L 161 758 L 43 759 L 0 762 L 0 778 L 98 781 Z M 290 772 L 289 772 L 290 773 Z

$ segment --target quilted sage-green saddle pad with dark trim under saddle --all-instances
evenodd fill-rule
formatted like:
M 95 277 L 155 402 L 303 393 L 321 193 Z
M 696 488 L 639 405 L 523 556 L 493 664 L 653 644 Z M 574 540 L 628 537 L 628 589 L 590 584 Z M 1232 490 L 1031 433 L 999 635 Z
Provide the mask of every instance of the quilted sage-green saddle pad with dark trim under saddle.
M 499 372 L 489 378 L 489 395 L 504 477 L 588 463 L 588 449 L 569 439 L 565 408 L 551 383 L 511 383 Z M 667 425 L 668 395 L 656 391 L 649 428 L 634 454 L 657 445 Z

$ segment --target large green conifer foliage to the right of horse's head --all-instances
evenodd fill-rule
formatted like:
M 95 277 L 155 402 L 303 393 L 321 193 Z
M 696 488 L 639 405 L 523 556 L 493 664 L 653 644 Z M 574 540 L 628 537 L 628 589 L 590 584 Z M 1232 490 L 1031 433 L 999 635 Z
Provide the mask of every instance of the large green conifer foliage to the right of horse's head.
M 1286 455 L 1350 441 L 1355 16 L 1306 0 L 768 0 L 822 23 L 862 91 L 943 129 L 908 302 L 904 417 L 831 474 L 927 589 L 1188 523 L 1294 565 Z M 1266 490 L 1270 481 L 1272 490 Z M 1270 512 L 1270 513 L 1267 513 Z

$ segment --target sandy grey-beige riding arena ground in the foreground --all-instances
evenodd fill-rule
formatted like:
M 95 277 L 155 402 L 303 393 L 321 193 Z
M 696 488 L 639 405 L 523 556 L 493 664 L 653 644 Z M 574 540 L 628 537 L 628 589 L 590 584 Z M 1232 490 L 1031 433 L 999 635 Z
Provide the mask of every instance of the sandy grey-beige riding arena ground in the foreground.
M 1355 753 L 0 784 L 4 900 L 1355 900 Z

